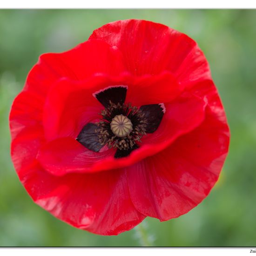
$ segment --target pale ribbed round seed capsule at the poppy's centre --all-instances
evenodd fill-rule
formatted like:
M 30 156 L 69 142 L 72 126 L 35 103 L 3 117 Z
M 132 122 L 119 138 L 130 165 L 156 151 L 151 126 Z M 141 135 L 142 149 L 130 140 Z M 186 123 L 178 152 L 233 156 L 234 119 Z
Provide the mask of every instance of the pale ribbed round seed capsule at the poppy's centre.
M 116 136 L 123 138 L 133 130 L 133 124 L 127 116 L 116 115 L 110 123 L 110 128 Z

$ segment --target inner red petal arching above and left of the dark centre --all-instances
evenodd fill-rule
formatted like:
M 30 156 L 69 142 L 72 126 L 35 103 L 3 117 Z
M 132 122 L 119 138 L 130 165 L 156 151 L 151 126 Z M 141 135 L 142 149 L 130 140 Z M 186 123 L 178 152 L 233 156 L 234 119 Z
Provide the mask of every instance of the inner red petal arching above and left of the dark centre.
M 85 81 L 61 79 L 49 90 L 45 102 L 43 124 L 47 140 L 64 136 L 76 138 L 87 123 L 99 121 L 104 107 L 93 94 L 117 85 L 128 85 L 126 102 L 133 106 L 171 101 L 182 92 L 182 87 L 168 72 L 141 78 L 101 74 Z

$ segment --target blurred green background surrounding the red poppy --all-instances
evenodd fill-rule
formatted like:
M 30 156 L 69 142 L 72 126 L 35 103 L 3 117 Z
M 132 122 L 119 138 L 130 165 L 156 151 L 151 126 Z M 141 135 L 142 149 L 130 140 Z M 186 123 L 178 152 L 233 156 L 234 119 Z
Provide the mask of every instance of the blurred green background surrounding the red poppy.
M 98 236 L 61 222 L 27 195 L 10 159 L 8 115 L 40 54 L 68 50 L 105 23 L 134 18 L 198 42 L 231 143 L 216 186 L 188 214 L 167 222 L 146 218 L 119 236 Z M 256 246 L 255 199 L 256 10 L 0 10 L 0 246 Z

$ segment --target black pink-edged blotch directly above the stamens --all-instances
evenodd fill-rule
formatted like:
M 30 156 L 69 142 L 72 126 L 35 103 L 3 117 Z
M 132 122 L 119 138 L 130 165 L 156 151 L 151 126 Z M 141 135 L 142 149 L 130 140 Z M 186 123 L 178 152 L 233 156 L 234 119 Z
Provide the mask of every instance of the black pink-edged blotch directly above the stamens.
M 105 108 L 108 108 L 110 101 L 114 104 L 123 104 L 126 98 L 126 92 L 127 86 L 111 86 L 104 88 L 93 95 Z

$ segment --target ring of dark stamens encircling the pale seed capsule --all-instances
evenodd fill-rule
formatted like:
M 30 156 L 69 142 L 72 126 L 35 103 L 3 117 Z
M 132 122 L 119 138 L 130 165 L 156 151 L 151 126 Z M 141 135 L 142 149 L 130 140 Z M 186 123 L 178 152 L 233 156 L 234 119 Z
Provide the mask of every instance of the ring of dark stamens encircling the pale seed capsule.
M 98 134 L 101 145 L 107 145 L 108 148 L 119 148 L 127 150 L 135 146 L 135 141 L 141 142 L 141 137 L 146 135 L 147 120 L 144 113 L 129 104 L 113 103 L 109 101 L 108 108 L 101 111 L 102 119 L 97 124 L 96 132 Z M 132 122 L 132 131 L 126 137 L 118 137 L 115 135 L 110 127 L 110 123 L 116 115 L 127 116 Z

